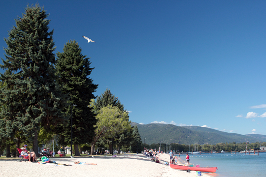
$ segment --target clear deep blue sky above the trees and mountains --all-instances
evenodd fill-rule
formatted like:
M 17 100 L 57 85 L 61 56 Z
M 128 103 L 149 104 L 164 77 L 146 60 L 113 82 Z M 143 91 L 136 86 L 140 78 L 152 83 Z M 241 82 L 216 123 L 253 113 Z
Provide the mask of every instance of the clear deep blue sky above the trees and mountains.
M 36 1 L 0 1 L 0 46 L 28 3 Z M 95 67 L 95 95 L 110 89 L 131 121 L 266 135 L 266 1 L 38 3 L 50 14 L 56 52 L 76 40 Z

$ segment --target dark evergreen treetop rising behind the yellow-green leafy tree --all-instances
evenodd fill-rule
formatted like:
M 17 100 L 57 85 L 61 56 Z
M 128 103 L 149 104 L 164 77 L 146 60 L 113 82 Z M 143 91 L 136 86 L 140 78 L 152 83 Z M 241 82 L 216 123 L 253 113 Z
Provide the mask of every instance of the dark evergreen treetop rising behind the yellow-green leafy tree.
M 96 110 L 100 111 L 101 108 L 108 105 L 118 107 L 120 111 L 125 111 L 124 105 L 120 103 L 118 97 L 115 97 L 115 95 L 113 95 L 109 89 L 106 89 L 104 93 L 97 98 L 95 106 Z

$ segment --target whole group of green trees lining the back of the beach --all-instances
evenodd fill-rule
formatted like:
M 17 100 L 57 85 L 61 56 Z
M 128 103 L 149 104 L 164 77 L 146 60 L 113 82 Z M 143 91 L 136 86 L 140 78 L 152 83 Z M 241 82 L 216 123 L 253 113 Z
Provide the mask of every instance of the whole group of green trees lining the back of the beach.
M 89 77 L 94 68 L 75 40 L 63 52 L 55 51 L 49 15 L 38 4 L 28 6 L 4 38 L 5 59 L 0 67 L 0 154 L 28 144 L 38 147 L 56 140 L 56 147 L 70 145 L 75 155 L 90 147 L 113 144 L 132 150 L 141 142 L 131 127 L 123 104 L 110 90 L 97 98 L 97 84 Z M 72 120 L 72 123 L 71 123 Z M 71 127 L 72 124 L 72 127 Z

